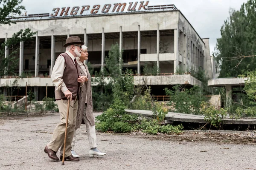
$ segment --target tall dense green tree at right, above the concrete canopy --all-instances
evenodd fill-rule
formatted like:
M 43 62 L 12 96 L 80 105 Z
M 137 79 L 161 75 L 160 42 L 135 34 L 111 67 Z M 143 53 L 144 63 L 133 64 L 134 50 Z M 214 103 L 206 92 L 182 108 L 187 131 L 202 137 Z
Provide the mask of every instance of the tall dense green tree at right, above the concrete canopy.
M 230 9 L 230 17 L 221 27 L 215 56 L 221 64 L 219 77 L 238 77 L 253 71 L 256 65 L 256 0 L 243 3 L 239 11 Z

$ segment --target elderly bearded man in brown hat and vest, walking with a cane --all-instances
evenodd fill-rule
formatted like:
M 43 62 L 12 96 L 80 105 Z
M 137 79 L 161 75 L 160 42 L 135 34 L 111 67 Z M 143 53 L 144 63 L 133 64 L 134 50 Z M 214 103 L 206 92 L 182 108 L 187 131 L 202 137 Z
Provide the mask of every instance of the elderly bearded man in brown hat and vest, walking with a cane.
M 58 56 L 52 69 L 51 79 L 52 83 L 55 85 L 55 99 L 60 112 L 61 123 L 55 127 L 52 133 L 52 139 L 44 148 L 44 152 L 48 154 L 50 159 L 55 161 L 59 160 L 56 155 L 59 148 L 61 148 L 61 152 L 63 153 L 68 99 L 70 99 L 70 110 L 67 126 L 65 160 L 79 161 L 78 158 L 74 158 L 71 154 L 71 142 L 76 127 L 78 91 L 86 80 L 85 76 L 80 76 L 81 69 L 75 58 L 81 56 L 81 46 L 83 44 L 84 42 L 81 42 L 78 36 L 67 38 L 66 43 L 63 45 L 66 47 L 66 52 Z

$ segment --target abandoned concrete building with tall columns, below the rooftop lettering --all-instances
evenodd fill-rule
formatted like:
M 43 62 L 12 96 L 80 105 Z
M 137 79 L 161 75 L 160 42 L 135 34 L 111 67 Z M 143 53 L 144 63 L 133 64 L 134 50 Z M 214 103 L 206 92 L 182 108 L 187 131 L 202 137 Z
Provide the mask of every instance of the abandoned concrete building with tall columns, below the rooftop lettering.
M 67 37 L 73 35 L 79 36 L 88 47 L 88 62 L 94 71 L 104 67 L 105 56 L 108 55 L 111 45 L 116 43 L 123 51 L 123 67 L 137 73 L 134 76 L 135 85 L 143 84 L 143 67 L 155 63 L 160 74 L 147 76 L 147 84 L 151 85 L 154 95 L 163 95 L 164 87 L 175 84 L 201 84 L 189 74 L 176 75 L 177 69 L 186 72 L 200 67 L 209 78 L 213 78 L 209 39 L 201 38 L 175 6 L 165 10 L 154 8 L 111 14 L 61 17 L 51 17 L 48 14 L 41 18 L 35 15 L 35 18 L 17 19 L 16 22 L 17 24 L 11 26 L 0 26 L 0 43 L 20 29 L 30 28 L 36 32 L 32 40 L 20 42 L 17 54 L 20 59 L 17 75 L 29 72 L 32 76 L 1 77 L 0 86 L 5 94 L 7 86 L 19 86 L 21 90 L 18 95 L 25 95 L 24 88 L 27 84 L 34 88 L 36 99 L 41 100 L 46 96 L 46 86 L 47 96 L 53 97 L 54 87 L 49 76 L 56 57 L 65 51 L 62 45 Z M 11 50 L 7 49 L 6 57 L 9 53 Z

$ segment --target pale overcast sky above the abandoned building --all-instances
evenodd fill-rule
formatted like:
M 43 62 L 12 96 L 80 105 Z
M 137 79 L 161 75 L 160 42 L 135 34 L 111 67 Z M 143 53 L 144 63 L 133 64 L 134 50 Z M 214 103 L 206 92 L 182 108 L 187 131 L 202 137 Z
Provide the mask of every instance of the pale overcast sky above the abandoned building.
M 28 14 L 52 13 L 53 8 L 140 2 L 141 0 L 23 0 Z M 214 51 L 220 29 L 229 17 L 229 8 L 239 10 L 247 0 L 149 0 L 148 6 L 174 4 L 195 28 L 201 38 L 210 38 L 210 51 Z M 91 7 L 92 8 L 92 7 Z M 91 9 L 90 8 L 90 9 Z M 126 8 L 125 8 L 126 9 Z

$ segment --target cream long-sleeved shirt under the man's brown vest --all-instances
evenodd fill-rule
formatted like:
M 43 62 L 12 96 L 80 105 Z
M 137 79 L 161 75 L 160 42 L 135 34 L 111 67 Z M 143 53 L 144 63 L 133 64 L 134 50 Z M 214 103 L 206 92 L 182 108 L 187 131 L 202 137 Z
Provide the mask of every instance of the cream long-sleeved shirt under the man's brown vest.
M 75 63 L 75 57 L 73 56 L 73 54 L 71 54 L 69 51 L 65 51 L 65 53 L 67 53 L 71 59 L 73 60 L 74 64 Z M 56 61 L 55 61 L 55 65 L 52 69 L 52 75 L 51 75 L 51 79 L 52 79 L 52 84 L 55 85 L 56 90 L 61 89 L 61 91 L 64 93 L 65 91 L 67 91 L 67 87 L 65 85 L 65 83 L 63 82 L 62 76 L 64 73 L 64 69 L 66 68 L 66 64 L 65 64 L 65 59 L 63 56 L 59 56 Z M 80 75 L 79 75 L 80 76 Z M 80 83 L 80 87 L 81 85 L 83 85 L 84 83 Z

